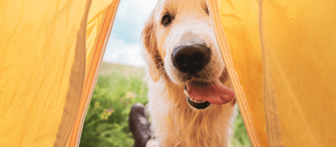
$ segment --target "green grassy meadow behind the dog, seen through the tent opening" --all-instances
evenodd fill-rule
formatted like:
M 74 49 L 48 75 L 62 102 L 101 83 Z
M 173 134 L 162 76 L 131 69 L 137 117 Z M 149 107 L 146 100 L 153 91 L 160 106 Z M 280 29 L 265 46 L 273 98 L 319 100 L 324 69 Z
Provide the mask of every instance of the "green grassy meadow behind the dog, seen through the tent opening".
M 102 63 L 85 117 L 80 147 L 131 147 L 128 115 L 134 103 L 147 104 L 144 68 Z M 240 116 L 234 124 L 232 146 L 251 146 Z

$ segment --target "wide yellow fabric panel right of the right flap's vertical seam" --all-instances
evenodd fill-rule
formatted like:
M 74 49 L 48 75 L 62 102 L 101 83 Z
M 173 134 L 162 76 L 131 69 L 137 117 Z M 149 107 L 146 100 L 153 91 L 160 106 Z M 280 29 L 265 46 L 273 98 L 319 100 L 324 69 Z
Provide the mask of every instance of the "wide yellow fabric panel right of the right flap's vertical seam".
M 336 2 L 262 1 L 260 26 L 265 75 L 270 75 L 265 81 L 272 87 L 264 98 L 277 104 L 279 141 L 335 146 Z

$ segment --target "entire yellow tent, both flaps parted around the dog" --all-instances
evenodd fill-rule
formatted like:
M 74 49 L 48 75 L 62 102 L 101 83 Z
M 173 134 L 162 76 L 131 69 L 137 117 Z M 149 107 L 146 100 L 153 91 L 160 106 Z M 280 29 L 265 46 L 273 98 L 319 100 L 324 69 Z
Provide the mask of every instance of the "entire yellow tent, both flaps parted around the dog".
M 0 2 L 0 146 L 78 146 L 118 3 Z M 207 3 L 252 146 L 335 146 L 336 2 Z

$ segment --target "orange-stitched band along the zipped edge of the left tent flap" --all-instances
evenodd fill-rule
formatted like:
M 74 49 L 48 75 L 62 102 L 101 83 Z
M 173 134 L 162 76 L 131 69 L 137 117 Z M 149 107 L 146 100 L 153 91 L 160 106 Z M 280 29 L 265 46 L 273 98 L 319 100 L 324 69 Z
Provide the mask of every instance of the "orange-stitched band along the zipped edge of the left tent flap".
M 114 23 L 114 18 L 117 13 L 117 8 L 120 0 L 114 0 L 111 2 L 107 9 L 104 11 L 102 16 L 102 20 L 104 20 L 100 26 L 96 36 L 95 43 L 93 45 L 93 54 L 91 54 L 90 61 L 88 64 L 88 68 L 86 69 L 85 76 L 85 86 L 83 90 L 82 100 L 79 108 L 79 113 L 76 118 L 76 122 L 74 128 L 72 130 L 71 135 L 69 136 L 69 140 L 67 143 L 67 147 L 78 147 L 80 143 L 80 137 L 83 129 L 83 124 L 85 120 L 85 115 L 90 104 L 91 96 L 94 91 L 95 83 L 97 81 L 100 66 L 102 63 L 102 59 L 104 57 L 105 49 L 107 43 L 109 41 L 110 33 L 112 30 L 112 26 Z M 80 118 L 79 118 L 80 117 Z M 77 121 L 77 119 L 79 121 Z M 77 131 L 75 131 L 77 130 Z

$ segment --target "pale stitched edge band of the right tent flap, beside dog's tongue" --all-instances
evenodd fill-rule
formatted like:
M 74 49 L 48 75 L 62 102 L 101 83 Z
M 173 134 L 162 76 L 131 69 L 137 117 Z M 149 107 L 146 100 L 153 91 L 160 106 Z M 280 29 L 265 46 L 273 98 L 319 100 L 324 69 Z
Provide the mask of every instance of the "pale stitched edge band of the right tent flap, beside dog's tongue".
M 253 120 L 252 120 L 252 116 L 249 110 L 249 106 L 247 104 L 247 100 L 245 97 L 245 94 L 243 92 L 243 88 L 240 85 L 239 82 L 239 78 L 238 78 L 238 74 L 235 71 L 234 67 L 233 67 L 233 63 L 232 63 L 232 57 L 230 54 L 230 49 L 229 46 L 227 44 L 226 41 L 226 37 L 225 37 L 225 32 L 223 30 L 223 28 L 221 27 L 221 23 L 220 23 L 220 17 L 219 17 L 219 11 L 218 11 L 218 5 L 217 5 L 217 1 L 216 0 L 208 0 L 208 7 L 209 7 L 209 11 L 210 14 L 213 14 L 210 16 L 211 20 L 212 20 L 212 24 L 213 24 L 213 28 L 216 34 L 216 38 L 217 38 L 217 42 L 219 45 L 219 48 L 221 50 L 221 53 L 223 55 L 223 59 L 226 65 L 226 68 L 228 69 L 228 75 L 230 80 L 233 83 L 234 86 L 234 91 L 235 91 L 235 97 L 237 99 L 238 102 L 238 106 L 240 108 L 244 121 L 244 124 L 246 125 L 246 132 L 250 138 L 251 141 L 251 145 L 253 147 L 260 147 L 260 141 L 257 137 L 256 131 L 255 131 L 255 127 L 253 125 Z M 210 3 L 209 3 L 210 2 Z M 215 13 L 217 12 L 217 13 Z

